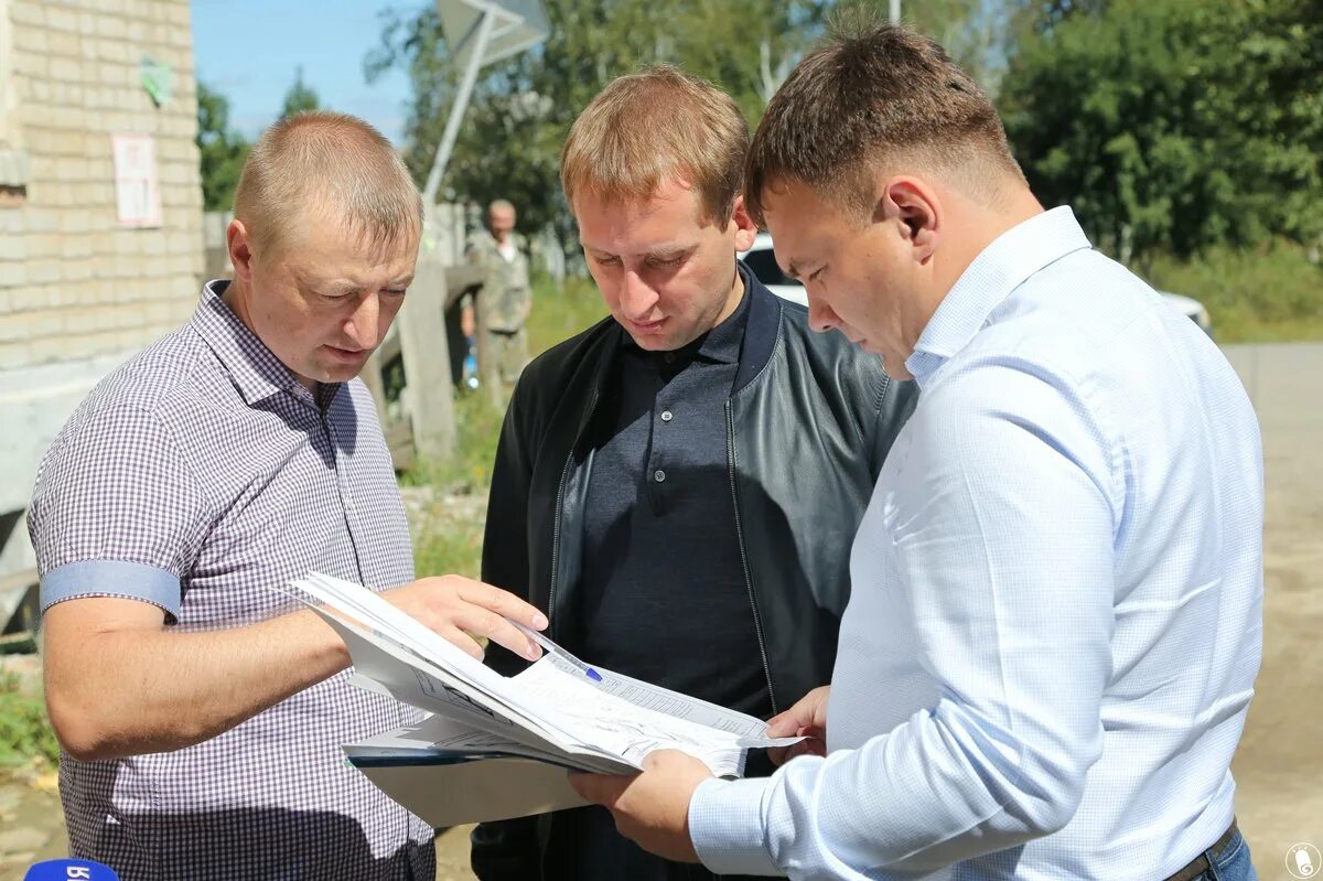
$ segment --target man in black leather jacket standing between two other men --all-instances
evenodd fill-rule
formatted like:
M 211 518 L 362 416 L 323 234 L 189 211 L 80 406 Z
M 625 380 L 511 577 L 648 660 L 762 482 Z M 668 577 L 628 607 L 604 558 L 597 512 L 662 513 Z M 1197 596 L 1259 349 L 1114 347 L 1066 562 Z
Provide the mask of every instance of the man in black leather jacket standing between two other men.
M 671 67 L 574 123 L 561 180 L 611 317 L 519 380 L 483 579 L 527 593 L 585 660 L 766 718 L 830 679 L 849 542 L 914 392 L 737 263 L 757 233 L 746 147 L 729 97 Z M 598 807 L 483 824 L 472 864 L 483 881 L 712 877 Z

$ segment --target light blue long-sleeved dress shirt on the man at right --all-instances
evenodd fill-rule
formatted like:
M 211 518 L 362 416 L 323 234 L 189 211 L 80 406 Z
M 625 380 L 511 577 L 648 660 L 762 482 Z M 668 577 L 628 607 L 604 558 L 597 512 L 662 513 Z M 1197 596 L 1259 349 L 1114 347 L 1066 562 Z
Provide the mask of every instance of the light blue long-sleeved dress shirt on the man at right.
M 1069 208 L 960 276 L 851 553 L 827 758 L 706 780 L 718 873 L 1163 878 L 1230 825 L 1263 472 L 1217 347 Z

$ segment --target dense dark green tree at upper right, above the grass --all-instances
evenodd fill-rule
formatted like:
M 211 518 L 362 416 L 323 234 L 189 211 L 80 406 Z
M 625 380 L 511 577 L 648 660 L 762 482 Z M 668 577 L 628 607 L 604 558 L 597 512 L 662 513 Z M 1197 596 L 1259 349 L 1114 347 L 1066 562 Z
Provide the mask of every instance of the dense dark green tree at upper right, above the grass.
M 1323 230 L 1312 0 L 1110 0 L 1052 17 L 1003 82 L 1016 156 L 1123 261 Z

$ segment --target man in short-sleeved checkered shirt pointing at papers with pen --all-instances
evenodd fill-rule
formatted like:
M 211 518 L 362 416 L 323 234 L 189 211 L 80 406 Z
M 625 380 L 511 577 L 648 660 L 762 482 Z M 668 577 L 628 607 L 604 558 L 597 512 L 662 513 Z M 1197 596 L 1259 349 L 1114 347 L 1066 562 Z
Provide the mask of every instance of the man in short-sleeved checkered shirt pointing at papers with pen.
M 304 114 L 254 146 L 234 217 L 234 280 L 97 386 L 33 492 L 70 847 L 126 881 L 431 878 L 433 831 L 340 753 L 417 713 L 352 688 L 340 639 L 271 590 L 310 570 L 394 587 L 475 656 L 463 631 L 537 656 L 503 618 L 544 627 L 532 606 L 414 581 L 355 378 L 411 280 L 422 205 L 373 128 Z

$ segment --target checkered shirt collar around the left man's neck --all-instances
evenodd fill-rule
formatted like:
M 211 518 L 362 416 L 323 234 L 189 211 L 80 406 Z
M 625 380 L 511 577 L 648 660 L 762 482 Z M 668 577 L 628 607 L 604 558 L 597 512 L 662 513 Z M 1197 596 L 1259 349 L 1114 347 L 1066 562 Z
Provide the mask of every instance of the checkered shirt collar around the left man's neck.
M 217 279 L 202 286 L 202 300 L 191 321 L 198 336 L 212 348 L 243 401 L 251 406 L 279 392 L 291 392 L 314 401 L 299 380 L 284 366 L 221 296 L 229 280 Z M 296 386 L 296 388 L 295 388 Z M 302 394 L 300 394 L 302 392 Z

